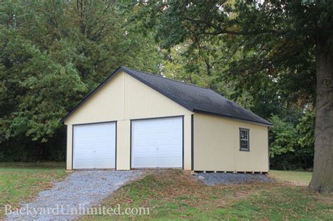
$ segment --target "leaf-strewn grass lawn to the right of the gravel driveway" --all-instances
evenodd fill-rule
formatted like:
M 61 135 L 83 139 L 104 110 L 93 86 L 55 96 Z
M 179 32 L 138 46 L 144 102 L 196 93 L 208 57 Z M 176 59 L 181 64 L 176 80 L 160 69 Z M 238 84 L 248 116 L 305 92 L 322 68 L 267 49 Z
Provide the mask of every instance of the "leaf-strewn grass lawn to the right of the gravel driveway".
M 309 173 L 273 171 L 280 180 L 308 182 Z M 227 219 L 227 220 L 332 220 L 333 194 L 316 194 L 306 185 L 274 184 L 207 186 L 181 170 L 148 173 L 120 188 L 102 206 L 150 208 L 150 215 L 87 215 L 82 220 Z

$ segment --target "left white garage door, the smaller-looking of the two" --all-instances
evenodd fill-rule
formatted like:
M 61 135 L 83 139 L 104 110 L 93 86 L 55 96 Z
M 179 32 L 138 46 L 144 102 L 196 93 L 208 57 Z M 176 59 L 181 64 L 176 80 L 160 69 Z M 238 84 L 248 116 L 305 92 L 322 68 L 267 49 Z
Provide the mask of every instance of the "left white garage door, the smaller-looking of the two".
M 116 123 L 91 123 L 73 128 L 73 168 L 115 168 Z

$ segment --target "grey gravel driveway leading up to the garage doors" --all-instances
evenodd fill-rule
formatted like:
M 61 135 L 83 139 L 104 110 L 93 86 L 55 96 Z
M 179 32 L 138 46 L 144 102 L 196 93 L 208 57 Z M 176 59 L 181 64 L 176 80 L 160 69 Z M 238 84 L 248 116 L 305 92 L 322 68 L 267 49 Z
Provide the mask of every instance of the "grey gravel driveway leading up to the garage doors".
M 106 196 L 126 182 L 139 178 L 143 173 L 143 170 L 76 171 L 62 182 L 56 182 L 52 189 L 40 192 L 35 201 L 23 204 L 22 208 L 25 210 L 22 210 L 22 214 L 11 213 L 7 220 L 74 220 L 77 215 L 67 215 L 73 208 L 79 210 L 96 206 Z M 63 208 L 60 208 L 61 205 Z M 47 214 L 48 211 L 42 209 L 57 207 L 57 211 L 60 211 L 58 215 Z M 27 214 L 27 208 L 31 213 Z M 35 213 L 36 211 L 39 214 Z

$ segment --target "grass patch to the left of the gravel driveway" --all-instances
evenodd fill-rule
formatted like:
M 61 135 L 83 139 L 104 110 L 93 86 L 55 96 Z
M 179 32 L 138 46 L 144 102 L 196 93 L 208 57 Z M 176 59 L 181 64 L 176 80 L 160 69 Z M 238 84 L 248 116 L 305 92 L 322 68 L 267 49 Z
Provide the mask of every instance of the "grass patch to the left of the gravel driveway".
M 0 163 L 0 220 L 4 205 L 19 208 L 65 175 L 65 163 Z

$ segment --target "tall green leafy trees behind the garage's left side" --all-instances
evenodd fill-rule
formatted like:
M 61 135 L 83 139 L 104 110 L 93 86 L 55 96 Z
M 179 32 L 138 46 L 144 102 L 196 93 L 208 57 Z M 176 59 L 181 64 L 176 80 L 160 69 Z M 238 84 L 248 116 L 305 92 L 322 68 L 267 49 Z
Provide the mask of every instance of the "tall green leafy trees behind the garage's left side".
M 1 158 L 64 160 L 59 120 L 74 105 L 119 66 L 158 71 L 154 35 L 128 21 L 130 6 L 81 0 L 0 3 Z

